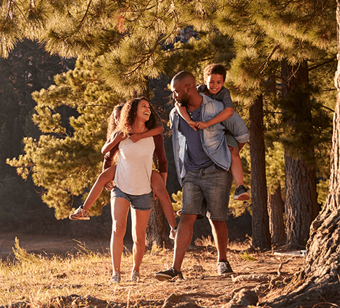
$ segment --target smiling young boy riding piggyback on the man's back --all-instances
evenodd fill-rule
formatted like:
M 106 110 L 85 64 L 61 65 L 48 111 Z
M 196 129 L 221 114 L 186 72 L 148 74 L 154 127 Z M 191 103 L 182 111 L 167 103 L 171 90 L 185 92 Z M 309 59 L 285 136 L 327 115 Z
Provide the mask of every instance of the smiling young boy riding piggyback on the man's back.
M 221 101 L 225 109 L 207 122 L 194 122 L 189 117 L 188 112 L 186 112 L 186 108 L 179 105 L 179 103 L 175 104 L 177 112 L 194 130 L 207 129 L 211 125 L 228 120 L 228 124 L 230 124 L 228 130 L 231 135 L 226 133 L 226 138 L 232 156 L 230 172 L 235 179 L 237 187 L 234 199 L 249 200 L 249 193 L 246 187 L 244 187 L 242 162 L 239 157 L 239 151 L 248 141 L 249 133 L 242 119 L 234 112 L 234 104 L 230 98 L 230 91 L 223 87 L 226 81 L 226 68 L 222 64 L 209 64 L 203 71 L 203 76 L 205 84 L 198 86 L 198 92 L 214 98 L 216 101 Z

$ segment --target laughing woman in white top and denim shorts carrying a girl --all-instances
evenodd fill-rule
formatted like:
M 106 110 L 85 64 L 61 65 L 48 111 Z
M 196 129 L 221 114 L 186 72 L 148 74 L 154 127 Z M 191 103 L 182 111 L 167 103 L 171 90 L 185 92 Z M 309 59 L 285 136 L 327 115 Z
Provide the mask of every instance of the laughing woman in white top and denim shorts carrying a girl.
M 157 126 L 158 116 L 147 98 L 134 98 L 124 104 L 117 130 L 124 135 L 112 151 L 118 154 L 114 175 L 114 188 L 111 191 L 112 212 L 112 283 L 121 280 L 121 254 L 124 247 L 126 219 L 131 207 L 133 237 L 133 270 L 131 281 L 139 281 L 140 264 L 145 253 L 147 221 L 154 202 L 151 189 L 152 158 L 158 157 L 161 176 L 166 183 L 168 164 L 163 147 L 163 138 L 156 135 L 133 142 L 131 133 L 145 133 Z

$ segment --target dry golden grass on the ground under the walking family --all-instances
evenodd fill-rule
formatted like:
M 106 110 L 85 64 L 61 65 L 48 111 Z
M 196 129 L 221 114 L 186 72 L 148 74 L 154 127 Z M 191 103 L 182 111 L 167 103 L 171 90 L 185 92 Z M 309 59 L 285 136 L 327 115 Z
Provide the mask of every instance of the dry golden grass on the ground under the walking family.
M 94 253 L 80 245 L 75 255 L 47 257 L 28 254 L 15 243 L 15 260 L 0 261 L 0 307 L 23 302 L 17 307 L 162 307 L 170 295 L 191 296 L 204 307 L 221 305 L 235 291 L 231 278 L 216 276 L 216 249 L 211 239 L 198 240 L 184 258 L 185 280 L 157 281 L 154 273 L 172 263 L 172 250 L 153 247 L 145 254 L 140 283 L 130 281 L 132 256 L 121 260 L 121 284 L 109 284 L 112 264 L 109 252 Z M 234 270 L 245 272 L 268 261 L 265 254 L 257 264 L 239 256 L 246 243 L 230 243 L 228 259 Z M 272 261 L 271 261 L 272 262 Z M 272 264 L 276 268 L 281 261 Z M 277 263 L 277 264 L 276 264 Z M 272 269 L 269 269 L 272 271 Z M 238 288 L 239 286 L 237 286 Z M 89 297 L 102 300 L 89 305 Z M 77 302 L 82 298 L 82 302 Z M 182 298 L 183 300 L 183 298 Z M 192 299 L 191 299 L 192 300 Z M 81 300 L 80 300 L 81 301 Z M 15 307 L 15 306 L 7 306 Z

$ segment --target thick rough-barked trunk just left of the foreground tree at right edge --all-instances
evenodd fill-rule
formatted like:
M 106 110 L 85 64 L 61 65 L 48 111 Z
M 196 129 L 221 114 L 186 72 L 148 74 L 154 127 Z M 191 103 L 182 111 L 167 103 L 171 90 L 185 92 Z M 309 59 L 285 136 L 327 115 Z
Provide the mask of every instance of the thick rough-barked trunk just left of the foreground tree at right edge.
M 311 104 L 306 61 L 290 66 L 281 62 L 282 94 L 286 101 L 283 121 L 294 145 L 286 146 L 286 243 L 290 247 L 305 246 L 309 227 L 318 214 L 316 170 L 311 144 Z M 294 149 L 295 152 L 288 152 Z

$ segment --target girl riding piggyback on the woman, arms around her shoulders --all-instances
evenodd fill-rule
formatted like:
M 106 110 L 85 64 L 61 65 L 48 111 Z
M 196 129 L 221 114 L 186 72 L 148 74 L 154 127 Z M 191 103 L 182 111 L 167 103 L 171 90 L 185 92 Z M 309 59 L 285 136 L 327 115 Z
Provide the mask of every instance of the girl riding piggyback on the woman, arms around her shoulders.
M 101 195 L 103 188 L 105 187 L 105 189 L 110 191 L 114 186 L 112 179 L 114 178 L 117 166 L 116 165 L 112 166 L 115 154 L 112 151 L 112 148 L 114 147 L 114 145 L 117 145 L 118 142 L 121 142 L 126 138 L 120 131 L 115 131 L 119 123 L 119 117 L 123 106 L 124 104 L 115 106 L 110 116 L 107 133 L 108 140 L 105 142 L 105 145 L 103 145 L 103 148 L 101 150 L 101 152 L 105 154 L 103 162 L 103 172 L 96 179 L 96 182 L 94 183 L 94 186 L 92 186 L 92 189 L 89 192 L 89 195 L 87 196 L 87 199 L 85 200 L 84 204 L 78 207 L 77 210 L 75 210 L 75 212 L 69 216 L 71 220 L 89 220 L 90 219 L 89 209 L 95 203 L 97 198 Z M 142 138 L 148 138 L 154 135 L 159 135 L 160 133 L 162 133 L 163 130 L 164 130 L 163 127 L 156 126 L 153 129 L 149 129 L 148 131 L 145 131 L 143 133 L 134 133 L 133 135 L 130 136 L 130 140 L 132 142 L 138 142 Z M 165 150 L 163 147 L 163 138 L 161 138 L 161 142 L 162 142 L 161 148 L 163 149 L 162 154 L 163 161 L 160 162 L 160 168 L 162 167 L 161 163 L 163 163 L 163 165 L 167 164 Z M 154 194 L 160 200 L 165 217 L 166 219 L 168 219 L 168 223 L 171 229 L 169 237 L 171 240 L 175 240 L 177 223 L 171 199 L 168 194 L 168 191 L 165 188 L 165 184 L 166 176 L 163 175 L 162 177 L 162 175 L 160 175 L 156 170 L 152 170 L 151 187 L 152 190 L 154 191 Z

